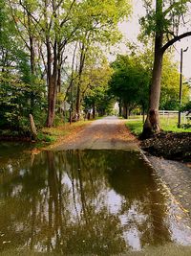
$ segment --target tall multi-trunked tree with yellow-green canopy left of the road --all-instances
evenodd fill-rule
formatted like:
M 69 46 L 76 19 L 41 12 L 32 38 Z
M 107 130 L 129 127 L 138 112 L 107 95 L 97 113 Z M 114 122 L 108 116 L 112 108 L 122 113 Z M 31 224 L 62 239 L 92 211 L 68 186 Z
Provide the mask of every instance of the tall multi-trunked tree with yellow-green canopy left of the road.
M 78 42 L 81 57 L 77 81 L 78 112 L 81 75 L 89 45 L 117 41 L 117 23 L 129 14 L 129 1 L 9 0 L 8 3 L 18 35 L 30 53 L 32 74 L 37 56 L 41 58 L 39 66 L 44 64 L 48 87 L 47 127 L 52 127 L 57 93 L 61 91 L 64 80 L 62 70 L 68 57 L 67 46 Z

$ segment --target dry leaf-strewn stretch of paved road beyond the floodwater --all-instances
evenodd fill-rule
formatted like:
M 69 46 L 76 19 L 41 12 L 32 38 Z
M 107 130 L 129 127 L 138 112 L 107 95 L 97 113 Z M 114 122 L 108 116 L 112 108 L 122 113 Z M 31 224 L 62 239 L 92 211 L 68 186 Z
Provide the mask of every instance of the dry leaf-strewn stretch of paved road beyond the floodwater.
M 138 141 L 125 128 L 125 121 L 115 116 L 96 120 L 54 150 L 138 150 Z

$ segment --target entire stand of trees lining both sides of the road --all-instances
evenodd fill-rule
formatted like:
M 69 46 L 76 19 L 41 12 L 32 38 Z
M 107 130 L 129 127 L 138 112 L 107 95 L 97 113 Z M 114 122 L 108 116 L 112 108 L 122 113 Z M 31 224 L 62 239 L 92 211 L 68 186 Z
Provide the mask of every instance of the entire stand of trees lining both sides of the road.
M 125 117 L 137 106 L 147 113 L 145 136 L 159 131 L 159 105 L 179 105 L 179 74 L 169 53 L 162 60 L 191 35 L 190 1 L 142 2 L 143 53 L 133 47 L 110 64 L 105 53 L 121 39 L 128 0 L 0 0 L 0 127 L 25 133 L 32 114 L 51 128 L 63 112 L 71 122 L 82 109 L 95 117 L 117 100 Z

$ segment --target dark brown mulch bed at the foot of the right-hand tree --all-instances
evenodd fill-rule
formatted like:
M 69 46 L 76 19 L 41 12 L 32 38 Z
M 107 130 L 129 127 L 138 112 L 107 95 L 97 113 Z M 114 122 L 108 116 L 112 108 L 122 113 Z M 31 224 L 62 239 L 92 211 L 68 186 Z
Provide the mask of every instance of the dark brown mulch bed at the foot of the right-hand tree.
M 160 132 L 140 142 L 143 151 L 166 159 L 191 162 L 191 132 Z

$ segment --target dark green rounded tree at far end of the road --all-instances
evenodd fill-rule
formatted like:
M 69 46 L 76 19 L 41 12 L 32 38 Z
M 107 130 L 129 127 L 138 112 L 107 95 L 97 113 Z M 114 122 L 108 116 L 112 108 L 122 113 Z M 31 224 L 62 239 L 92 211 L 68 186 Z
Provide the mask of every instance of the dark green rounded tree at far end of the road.
M 144 112 L 148 99 L 150 73 L 142 55 L 117 56 L 112 64 L 114 74 L 110 90 L 123 105 L 123 115 L 128 118 L 133 108 L 140 105 Z

